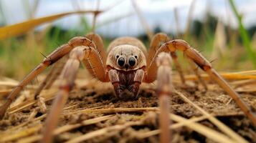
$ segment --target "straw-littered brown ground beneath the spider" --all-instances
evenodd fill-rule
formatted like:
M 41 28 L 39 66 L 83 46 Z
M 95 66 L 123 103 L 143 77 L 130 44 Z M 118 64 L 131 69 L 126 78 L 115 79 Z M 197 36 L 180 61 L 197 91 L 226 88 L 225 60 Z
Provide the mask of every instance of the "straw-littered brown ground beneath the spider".
M 39 77 L 39 81 L 42 78 Z M 217 117 L 235 134 L 239 134 L 248 142 L 256 142 L 255 127 L 217 84 L 207 81 L 209 89 L 205 91 L 195 82 L 189 81 L 189 87 L 184 87 L 176 81 L 179 80 L 174 80 L 174 89 L 191 102 Z M 81 71 L 75 82 L 75 89 L 70 93 L 62 112 L 58 129 L 54 133 L 57 134 L 54 141 L 158 142 L 156 84 L 143 84 L 138 99 L 116 99 L 110 84 L 101 84 L 95 79 L 87 78 Z M 5 89 L 10 88 L 6 86 Z M 27 87 L 19 97 L 20 101 L 16 102 L 0 121 L 0 142 L 37 142 L 41 138 L 46 114 L 32 98 L 36 88 L 37 84 Z M 47 101 L 47 109 L 50 108 L 56 92 L 57 83 L 51 89 L 42 92 L 42 97 Z M 241 92 L 240 95 L 252 109 L 255 109 L 255 92 Z M 0 99 L 1 103 L 4 102 L 4 97 Z M 204 118 L 202 112 L 185 102 L 176 92 L 170 95 L 170 107 L 173 114 L 185 119 L 202 117 L 197 123 L 224 134 L 216 124 Z M 172 142 L 216 142 L 184 124 L 175 127 L 176 122 L 172 122 Z M 227 134 L 224 136 L 229 137 Z

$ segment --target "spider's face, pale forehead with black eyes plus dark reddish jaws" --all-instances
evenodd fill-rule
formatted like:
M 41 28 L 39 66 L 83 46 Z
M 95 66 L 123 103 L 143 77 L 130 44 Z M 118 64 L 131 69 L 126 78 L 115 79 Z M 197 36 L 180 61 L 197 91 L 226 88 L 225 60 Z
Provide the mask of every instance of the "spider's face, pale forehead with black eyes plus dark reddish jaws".
M 136 99 L 139 84 L 134 82 L 136 71 L 146 66 L 146 56 L 138 48 L 130 44 L 113 47 L 108 53 L 107 66 L 116 69 L 110 78 L 118 79 L 118 84 L 113 84 L 115 95 L 121 99 Z

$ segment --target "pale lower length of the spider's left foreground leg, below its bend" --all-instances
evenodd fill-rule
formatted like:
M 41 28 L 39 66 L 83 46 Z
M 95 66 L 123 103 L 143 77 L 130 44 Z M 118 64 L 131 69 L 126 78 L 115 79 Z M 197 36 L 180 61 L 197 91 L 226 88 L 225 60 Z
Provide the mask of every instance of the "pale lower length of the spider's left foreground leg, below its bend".
M 74 86 L 75 77 L 77 70 L 80 66 L 80 61 L 84 59 L 86 54 L 86 46 L 77 46 L 75 49 L 70 51 L 70 58 L 60 74 L 60 79 L 62 80 L 60 84 L 60 91 L 57 93 L 56 99 L 52 104 L 52 109 L 49 112 L 46 121 L 46 128 L 43 132 L 42 142 L 52 142 L 52 132 L 57 126 L 60 113 L 65 103 L 67 102 L 67 96 L 72 87 Z

